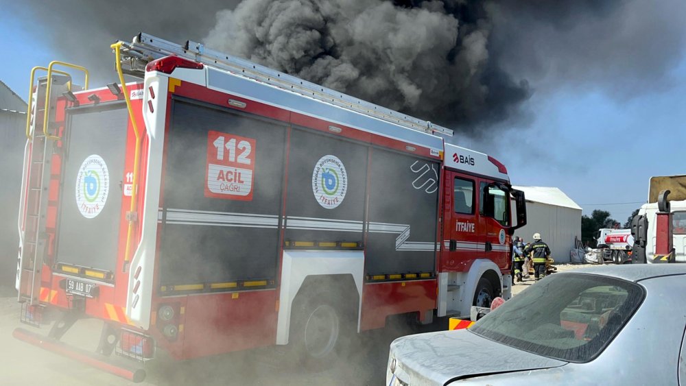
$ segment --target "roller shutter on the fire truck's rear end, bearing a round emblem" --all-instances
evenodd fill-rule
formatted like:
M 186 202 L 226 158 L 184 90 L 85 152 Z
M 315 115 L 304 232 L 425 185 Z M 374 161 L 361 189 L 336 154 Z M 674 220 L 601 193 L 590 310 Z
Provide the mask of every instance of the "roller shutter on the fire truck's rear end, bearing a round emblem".
M 56 261 L 114 272 L 126 157 L 126 106 L 72 110 L 68 122 Z

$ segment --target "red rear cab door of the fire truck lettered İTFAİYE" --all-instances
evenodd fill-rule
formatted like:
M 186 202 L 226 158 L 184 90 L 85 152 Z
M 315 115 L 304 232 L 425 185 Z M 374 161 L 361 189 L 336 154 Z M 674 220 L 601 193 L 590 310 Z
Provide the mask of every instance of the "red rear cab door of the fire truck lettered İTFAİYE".
M 462 269 L 484 254 L 484 234 L 477 212 L 477 178 L 447 171 L 443 269 Z

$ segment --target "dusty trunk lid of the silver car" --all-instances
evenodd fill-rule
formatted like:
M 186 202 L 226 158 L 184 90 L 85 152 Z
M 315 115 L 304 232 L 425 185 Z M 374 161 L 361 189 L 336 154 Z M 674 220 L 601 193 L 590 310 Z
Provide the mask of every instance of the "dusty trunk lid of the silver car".
M 415 385 L 445 385 L 456 378 L 558 367 L 564 361 L 511 348 L 468 330 L 410 335 L 390 345 L 395 374 Z

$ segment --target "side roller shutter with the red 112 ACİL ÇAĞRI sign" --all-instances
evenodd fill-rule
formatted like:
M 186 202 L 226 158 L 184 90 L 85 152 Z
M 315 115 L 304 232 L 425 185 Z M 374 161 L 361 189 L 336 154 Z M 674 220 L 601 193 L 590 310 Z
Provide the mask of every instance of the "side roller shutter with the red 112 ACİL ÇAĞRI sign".
M 185 99 L 174 100 L 171 119 L 159 215 L 163 293 L 226 291 L 247 280 L 273 286 L 285 125 Z

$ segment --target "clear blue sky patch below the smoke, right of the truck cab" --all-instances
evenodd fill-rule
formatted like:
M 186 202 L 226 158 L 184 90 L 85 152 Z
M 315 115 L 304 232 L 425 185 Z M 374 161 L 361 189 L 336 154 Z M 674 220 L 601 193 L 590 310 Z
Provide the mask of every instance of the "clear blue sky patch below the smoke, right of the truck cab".
M 534 94 L 530 125 L 467 141 L 504 162 L 513 184 L 556 186 L 584 215 L 608 210 L 624 224 L 651 176 L 686 174 L 686 60 L 670 75 L 671 86 L 626 99 L 593 88 Z

